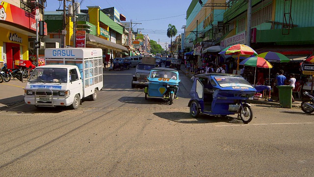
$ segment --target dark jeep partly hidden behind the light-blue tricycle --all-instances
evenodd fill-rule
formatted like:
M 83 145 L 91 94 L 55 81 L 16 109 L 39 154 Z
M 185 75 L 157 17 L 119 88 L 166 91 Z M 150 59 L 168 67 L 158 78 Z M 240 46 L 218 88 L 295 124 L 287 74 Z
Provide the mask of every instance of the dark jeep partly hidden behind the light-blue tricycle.
M 155 68 L 155 64 L 145 64 L 139 63 L 136 66 L 135 75 L 132 78 L 132 88 L 137 87 L 147 87 L 148 80 L 147 76 L 150 73 L 151 69 Z

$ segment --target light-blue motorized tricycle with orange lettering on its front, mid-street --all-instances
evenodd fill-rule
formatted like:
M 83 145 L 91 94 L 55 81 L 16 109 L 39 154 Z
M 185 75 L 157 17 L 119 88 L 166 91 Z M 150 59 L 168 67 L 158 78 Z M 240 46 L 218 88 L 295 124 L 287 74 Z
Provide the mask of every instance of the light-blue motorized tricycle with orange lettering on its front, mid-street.
M 144 89 L 145 99 L 148 97 L 163 98 L 171 105 L 173 100 L 177 98 L 181 81 L 177 70 L 163 67 L 154 68 L 147 80 L 148 87 Z

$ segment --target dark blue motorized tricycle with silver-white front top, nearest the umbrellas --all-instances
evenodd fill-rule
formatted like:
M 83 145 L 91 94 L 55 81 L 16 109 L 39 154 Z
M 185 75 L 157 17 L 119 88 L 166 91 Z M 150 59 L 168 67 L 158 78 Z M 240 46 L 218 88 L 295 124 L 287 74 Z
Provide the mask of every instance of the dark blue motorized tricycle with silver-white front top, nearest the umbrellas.
M 191 88 L 188 103 L 190 115 L 194 118 L 200 113 L 206 115 L 238 114 L 244 123 L 253 118 L 251 105 L 246 103 L 256 89 L 242 76 L 235 74 L 197 74 Z

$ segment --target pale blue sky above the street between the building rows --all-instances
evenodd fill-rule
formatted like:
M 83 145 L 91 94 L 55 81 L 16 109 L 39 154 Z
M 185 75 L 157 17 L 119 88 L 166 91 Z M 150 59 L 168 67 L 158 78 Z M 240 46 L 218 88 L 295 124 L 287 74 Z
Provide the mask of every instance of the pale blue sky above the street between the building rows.
M 184 32 L 186 25 L 186 10 L 192 0 L 75 0 L 80 3 L 80 9 L 86 6 L 100 6 L 101 9 L 115 7 L 120 14 L 126 17 L 126 22 L 132 20 L 133 30 L 148 34 L 151 40 L 156 41 L 165 49 L 170 43 L 167 36 L 168 25 L 174 25 L 177 35 Z M 71 2 L 71 1 L 70 1 Z M 67 1 L 67 4 L 70 3 Z M 45 11 L 63 9 L 63 0 L 47 0 Z M 141 24 L 135 24 L 141 23 Z M 175 38 L 175 37 L 174 37 Z M 173 38 L 173 40 L 174 40 Z M 159 41 L 159 42 L 158 42 Z

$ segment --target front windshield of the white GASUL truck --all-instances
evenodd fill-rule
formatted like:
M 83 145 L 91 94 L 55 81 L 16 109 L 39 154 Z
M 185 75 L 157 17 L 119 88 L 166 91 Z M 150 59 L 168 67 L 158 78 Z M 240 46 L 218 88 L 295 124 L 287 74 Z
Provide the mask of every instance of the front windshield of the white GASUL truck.
M 28 82 L 67 83 L 67 76 L 65 68 L 36 68 Z

